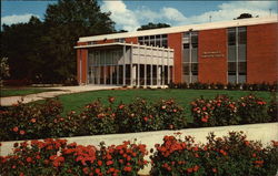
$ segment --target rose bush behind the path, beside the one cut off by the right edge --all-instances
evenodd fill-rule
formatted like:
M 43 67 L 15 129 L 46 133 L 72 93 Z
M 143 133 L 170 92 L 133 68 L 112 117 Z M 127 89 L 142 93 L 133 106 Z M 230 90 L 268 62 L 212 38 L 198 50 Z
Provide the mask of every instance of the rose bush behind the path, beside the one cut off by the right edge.
M 241 123 L 268 122 L 267 102 L 255 95 L 244 96 L 238 101 L 238 115 Z

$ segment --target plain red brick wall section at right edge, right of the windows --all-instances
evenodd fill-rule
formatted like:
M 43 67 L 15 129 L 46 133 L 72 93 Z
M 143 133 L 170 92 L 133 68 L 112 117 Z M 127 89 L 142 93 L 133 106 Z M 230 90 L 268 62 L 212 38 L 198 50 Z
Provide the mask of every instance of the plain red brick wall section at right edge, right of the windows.
M 247 82 L 277 81 L 278 23 L 247 27 Z

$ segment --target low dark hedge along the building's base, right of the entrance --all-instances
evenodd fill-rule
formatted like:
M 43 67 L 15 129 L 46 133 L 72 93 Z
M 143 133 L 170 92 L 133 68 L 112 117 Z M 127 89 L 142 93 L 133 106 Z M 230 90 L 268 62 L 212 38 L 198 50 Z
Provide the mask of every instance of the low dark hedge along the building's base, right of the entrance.
M 193 90 L 244 90 L 244 91 L 272 91 L 276 92 L 278 84 L 277 82 L 270 83 L 170 83 L 168 85 L 170 89 L 193 89 Z

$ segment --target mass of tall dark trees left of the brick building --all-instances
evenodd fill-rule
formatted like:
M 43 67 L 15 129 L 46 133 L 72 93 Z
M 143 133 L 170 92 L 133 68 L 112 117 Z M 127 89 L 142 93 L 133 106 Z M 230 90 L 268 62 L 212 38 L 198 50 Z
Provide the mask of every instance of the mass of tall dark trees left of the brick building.
M 1 56 L 8 56 L 12 79 L 63 82 L 76 75 L 80 37 L 115 32 L 110 13 L 97 0 L 59 0 L 49 4 L 44 21 L 3 25 Z M 38 80 L 39 79 L 39 80 Z

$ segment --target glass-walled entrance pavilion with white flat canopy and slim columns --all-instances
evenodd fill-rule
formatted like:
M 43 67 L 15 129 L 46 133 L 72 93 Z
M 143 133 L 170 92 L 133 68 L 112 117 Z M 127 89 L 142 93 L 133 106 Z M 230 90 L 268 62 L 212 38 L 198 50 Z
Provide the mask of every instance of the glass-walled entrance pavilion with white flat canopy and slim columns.
M 87 49 L 88 84 L 166 85 L 172 81 L 173 50 L 132 43 L 75 46 Z M 82 69 L 87 66 L 87 69 Z

